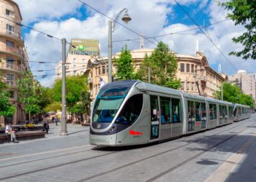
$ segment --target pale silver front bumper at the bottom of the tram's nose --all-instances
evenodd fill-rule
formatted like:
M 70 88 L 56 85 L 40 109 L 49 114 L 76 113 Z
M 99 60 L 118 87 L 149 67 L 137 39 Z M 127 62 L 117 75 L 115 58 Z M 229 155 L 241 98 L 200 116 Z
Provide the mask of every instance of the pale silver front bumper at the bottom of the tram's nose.
M 116 146 L 116 134 L 114 135 L 92 135 L 89 136 L 89 142 L 94 146 Z

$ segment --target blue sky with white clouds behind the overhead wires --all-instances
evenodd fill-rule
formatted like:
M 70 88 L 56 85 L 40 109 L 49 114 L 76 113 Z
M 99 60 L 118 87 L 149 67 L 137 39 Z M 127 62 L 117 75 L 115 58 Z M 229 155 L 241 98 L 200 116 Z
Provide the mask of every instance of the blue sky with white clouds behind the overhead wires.
M 25 0 L 19 0 L 18 2 L 24 2 Z M 34 2 L 34 3 L 33 3 Z M 60 1 L 58 1 L 60 4 Z M 58 9 L 57 1 L 53 1 L 52 7 Z M 62 2 L 62 1 L 61 1 Z M 200 7 L 204 7 L 207 1 L 198 0 L 183 0 L 179 1 L 180 4 L 192 4 L 200 2 Z M 101 44 L 101 55 L 105 56 L 108 54 L 108 18 L 99 15 L 99 13 L 94 12 L 91 9 L 86 9 L 90 12 L 89 17 L 83 17 L 83 20 L 78 20 L 75 18 L 69 18 L 67 20 L 59 20 L 59 17 L 67 15 L 69 13 L 78 13 L 76 9 L 80 7 L 77 1 L 67 0 L 64 7 L 61 7 L 59 12 L 54 8 L 50 7 L 47 9 L 48 1 L 37 1 L 37 4 L 42 5 L 42 9 L 38 12 L 34 12 L 32 17 L 29 17 L 30 8 L 36 7 L 35 1 L 28 4 L 20 6 L 20 10 L 23 14 L 23 19 L 25 22 L 31 22 L 31 20 L 43 20 L 41 22 L 35 23 L 34 28 L 49 33 L 50 35 L 66 38 L 70 41 L 72 38 L 83 38 L 83 39 L 99 39 Z M 114 18 L 118 12 L 127 7 L 129 9 L 129 16 L 132 17 L 132 21 L 129 24 L 124 24 L 132 30 L 143 34 L 144 36 L 158 36 L 165 33 L 171 33 L 176 31 L 183 31 L 189 28 L 196 28 L 195 25 L 183 25 L 183 24 L 173 24 L 165 25 L 167 20 L 167 15 L 173 12 L 172 6 L 175 5 L 174 1 L 168 0 L 130 0 L 130 1 L 86 1 L 86 3 L 92 5 L 93 7 L 99 9 L 100 11 L 106 13 L 109 17 Z M 55 5 L 54 5 L 55 4 Z M 41 6 L 40 5 L 40 6 Z M 37 5 L 38 6 L 38 5 Z M 87 12 L 88 13 L 88 12 Z M 215 1 L 211 1 L 208 7 L 208 14 L 211 17 L 210 22 L 215 23 L 219 20 L 225 19 L 226 11 L 221 7 L 218 7 Z M 55 21 L 53 21 L 55 20 Z M 121 17 L 118 22 L 121 23 Z M 231 50 L 241 49 L 241 46 L 234 44 L 231 38 L 237 36 L 244 31 L 242 26 L 235 26 L 231 20 L 213 25 L 208 28 L 208 34 L 211 39 L 217 44 L 222 52 L 227 55 L 227 58 L 235 65 L 237 68 L 245 69 L 246 71 L 254 71 L 255 64 L 252 61 L 244 61 L 241 58 L 230 57 L 228 52 Z M 197 33 L 197 31 L 189 31 L 187 33 Z M 113 32 L 113 41 L 122 39 L 132 39 L 139 38 L 138 35 L 128 31 L 126 28 L 121 27 L 121 25 L 116 25 L 116 29 Z M 203 33 L 197 33 L 195 35 L 170 35 L 164 36 L 162 38 L 157 38 L 157 40 L 151 39 L 151 41 L 157 42 L 160 40 L 165 41 L 169 44 L 170 49 L 174 50 L 178 54 L 195 55 L 195 42 L 199 40 L 200 50 L 205 53 L 208 58 L 208 62 L 211 65 L 217 65 L 222 63 L 222 71 L 227 72 L 227 74 L 234 74 L 236 71 L 230 66 L 230 63 L 222 57 L 220 52 L 214 48 L 213 44 L 203 35 Z M 128 45 L 128 48 L 139 49 L 140 40 L 137 41 L 121 41 L 113 42 L 113 53 L 119 52 L 124 44 Z M 30 53 L 30 60 L 34 61 L 58 61 L 61 60 L 61 42 L 55 39 L 50 39 L 47 36 L 31 31 L 26 34 L 25 37 L 26 46 Z M 145 40 L 146 48 L 154 48 L 155 45 L 149 43 Z M 31 70 L 36 70 L 38 65 L 31 64 Z M 42 69 L 53 68 L 53 65 L 42 65 Z M 39 75 L 39 73 L 34 73 Z M 45 73 L 48 74 L 48 73 Z M 48 77 L 47 79 L 42 79 L 42 84 L 45 86 L 50 86 L 53 82 L 53 77 Z

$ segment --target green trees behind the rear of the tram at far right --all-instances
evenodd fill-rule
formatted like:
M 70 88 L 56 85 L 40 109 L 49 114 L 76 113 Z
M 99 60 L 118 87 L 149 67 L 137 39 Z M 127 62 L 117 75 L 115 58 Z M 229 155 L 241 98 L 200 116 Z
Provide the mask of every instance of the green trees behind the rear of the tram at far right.
M 251 106 L 254 108 L 254 100 L 252 95 L 246 95 L 241 92 L 241 89 L 236 86 L 236 84 L 232 84 L 230 82 L 223 83 L 223 100 L 230 103 L 241 103 L 246 106 Z M 217 91 L 216 93 L 217 99 L 222 98 L 222 92 Z

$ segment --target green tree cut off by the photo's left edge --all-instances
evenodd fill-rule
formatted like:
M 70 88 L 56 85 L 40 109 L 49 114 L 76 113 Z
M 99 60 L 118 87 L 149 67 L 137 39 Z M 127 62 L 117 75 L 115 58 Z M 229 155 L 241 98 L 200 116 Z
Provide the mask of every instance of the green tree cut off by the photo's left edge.
M 9 103 L 7 85 L 0 81 L 0 116 L 12 116 L 15 114 L 15 106 Z

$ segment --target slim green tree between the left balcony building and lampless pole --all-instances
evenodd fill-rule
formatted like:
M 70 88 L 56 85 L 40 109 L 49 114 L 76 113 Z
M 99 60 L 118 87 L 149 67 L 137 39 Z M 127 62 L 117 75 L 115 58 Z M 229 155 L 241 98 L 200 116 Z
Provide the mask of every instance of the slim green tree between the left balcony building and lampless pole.
M 44 100 L 42 95 L 42 87 L 34 79 L 31 71 L 24 71 L 21 79 L 18 79 L 18 100 L 25 106 L 25 112 L 29 114 L 39 114 L 42 110 L 41 103 Z

